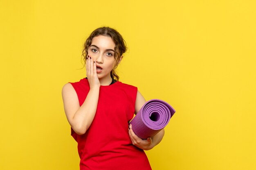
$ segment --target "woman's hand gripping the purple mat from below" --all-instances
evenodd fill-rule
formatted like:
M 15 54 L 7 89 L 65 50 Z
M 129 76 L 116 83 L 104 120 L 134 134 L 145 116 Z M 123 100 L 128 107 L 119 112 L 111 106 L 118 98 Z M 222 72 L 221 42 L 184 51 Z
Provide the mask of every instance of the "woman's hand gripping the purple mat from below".
M 132 124 L 130 124 L 129 136 L 132 140 L 132 144 L 137 146 L 138 148 L 141 148 L 143 150 L 150 150 L 154 147 L 153 141 L 151 137 L 148 137 L 147 139 L 141 139 L 135 133 L 132 131 Z

